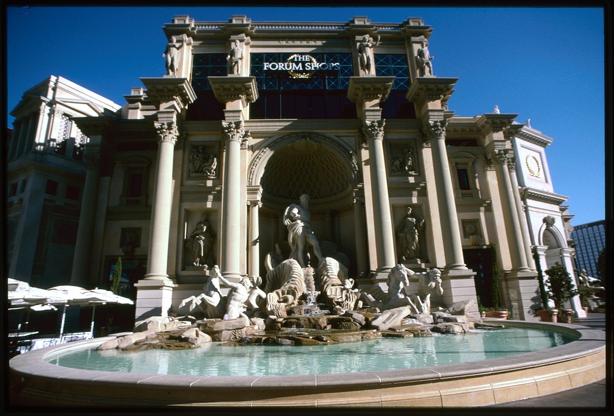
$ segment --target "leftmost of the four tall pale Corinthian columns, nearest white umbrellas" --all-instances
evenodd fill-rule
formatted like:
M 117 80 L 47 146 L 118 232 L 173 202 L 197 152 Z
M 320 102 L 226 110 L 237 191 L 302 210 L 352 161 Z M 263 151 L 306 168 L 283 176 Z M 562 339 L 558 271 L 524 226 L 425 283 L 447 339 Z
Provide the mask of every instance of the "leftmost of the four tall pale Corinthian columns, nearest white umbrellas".
M 166 274 L 168 236 L 171 225 L 173 152 L 179 133 L 174 121 L 156 121 L 154 126 L 158 135 L 158 161 L 150 228 L 151 242 L 145 278 L 148 280 L 166 280 L 168 279 L 168 274 Z

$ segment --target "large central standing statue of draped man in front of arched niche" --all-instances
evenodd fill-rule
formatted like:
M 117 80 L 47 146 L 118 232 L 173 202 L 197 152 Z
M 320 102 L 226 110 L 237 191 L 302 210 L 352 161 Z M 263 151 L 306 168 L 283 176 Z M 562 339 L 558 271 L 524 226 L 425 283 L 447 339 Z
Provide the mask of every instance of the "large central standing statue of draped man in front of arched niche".
M 309 195 L 304 193 L 300 196 L 300 201 L 300 204 L 292 204 L 286 208 L 284 225 L 288 228 L 288 242 L 292 249 L 290 258 L 297 260 L 298 264 L 305 268 L 309 265 L 309 246 L 313 247 L 318 263 L 322 260 L 322 252 L 316 234 L 311 230 Z

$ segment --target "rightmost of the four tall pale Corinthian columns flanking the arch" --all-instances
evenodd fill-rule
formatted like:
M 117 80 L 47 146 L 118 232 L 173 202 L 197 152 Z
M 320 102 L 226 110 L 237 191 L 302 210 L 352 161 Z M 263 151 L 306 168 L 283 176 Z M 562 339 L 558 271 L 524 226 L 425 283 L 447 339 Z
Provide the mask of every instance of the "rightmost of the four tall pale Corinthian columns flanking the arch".
M 430 144 L 433 149 L 433 170 L 437 183 L 437 199 L 439 201 L 439 219 L 441 234 L 445 247 L 446 269 L 467 269 L 462 255 L 461 232 L 456 214 L 454 188 L 446 151 L 447 120 L 430 120 L 427 130 L 430 133 Z

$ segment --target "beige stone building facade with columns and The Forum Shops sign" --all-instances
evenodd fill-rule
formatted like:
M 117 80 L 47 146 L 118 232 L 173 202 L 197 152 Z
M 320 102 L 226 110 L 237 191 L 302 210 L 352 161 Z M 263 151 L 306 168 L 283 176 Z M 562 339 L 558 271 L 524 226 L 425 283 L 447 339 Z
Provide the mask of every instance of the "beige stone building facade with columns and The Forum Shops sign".
M 497 109 L 454 115 L 457 79 L 434 75 L 421 19 L 176 16 L 164 31 L 165 76 L 72 119 L 88 164 L 71 283 L 104 285 L 122 256 L 136 318 L 177 312 L 213 264 L 236 281 L 287 257 L 284 210 L 303 193 L 323 255 L 359 287 L 386 287 L 397 263 L 439 268 L 436 301 L 494 306 L 494 286 L 535 320 L 532 247 L 572 272 L 552 139 Z

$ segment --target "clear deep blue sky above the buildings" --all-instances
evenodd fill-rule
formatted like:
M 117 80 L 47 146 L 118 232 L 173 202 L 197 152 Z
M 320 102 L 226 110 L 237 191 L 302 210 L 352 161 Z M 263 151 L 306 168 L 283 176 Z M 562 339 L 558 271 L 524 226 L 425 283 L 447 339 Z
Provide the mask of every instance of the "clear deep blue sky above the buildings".
M 569 196 L 573 225 L 605 218 L 604 26 L 600 8 L 478 7 L 39 7 L 7 9 L 7 108 L 49 75 L 125 104 L 139 77 L 165 74 L 174 15 L 227 21 L 376 23 L 421 17 L 439 77 L 458 77 L 456 115 L 492 112 L 531 119 L 553 137 L 546 150 L 554 190 Z M 7 116 L 9 126 L 13 118 Z

